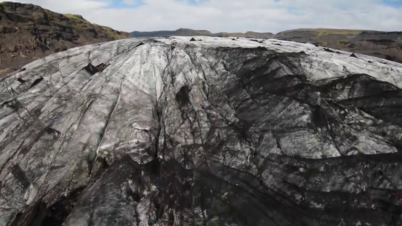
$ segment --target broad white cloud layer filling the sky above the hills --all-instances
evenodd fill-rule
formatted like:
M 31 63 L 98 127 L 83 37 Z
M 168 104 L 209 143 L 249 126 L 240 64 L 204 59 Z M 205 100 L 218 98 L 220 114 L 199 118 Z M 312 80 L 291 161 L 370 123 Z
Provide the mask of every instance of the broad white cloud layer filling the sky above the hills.
M 135 3 L 138 0 L 123 0 Z M 273 32 L 296 28 L 402 30 L 402 8 L 382 0 L 144 0 L 138 8 L 113 8 L 115 0 L 20 0 L 121 31 L 206 29 Z M 106 7 L 108 6 L 109 7 Z

